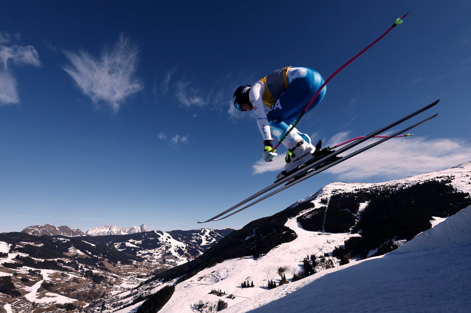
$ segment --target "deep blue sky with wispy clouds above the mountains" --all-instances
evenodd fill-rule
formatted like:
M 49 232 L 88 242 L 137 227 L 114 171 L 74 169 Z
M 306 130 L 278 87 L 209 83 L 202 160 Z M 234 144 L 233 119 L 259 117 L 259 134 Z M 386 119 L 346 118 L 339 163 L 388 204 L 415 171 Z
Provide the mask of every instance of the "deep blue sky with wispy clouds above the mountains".
M 240 228 L 332 181 L 381 182 L 471 161 L 471 3 L 14 1 L 0 10 L 0 231 L 146 224 Z M 284 66 L 329 77 L 297 128 L 335 145 L 441 99 L 381 144 L 220 222 L 271 184 L 237 86 Z M 398 127 L 398 131 L 404 127 Z

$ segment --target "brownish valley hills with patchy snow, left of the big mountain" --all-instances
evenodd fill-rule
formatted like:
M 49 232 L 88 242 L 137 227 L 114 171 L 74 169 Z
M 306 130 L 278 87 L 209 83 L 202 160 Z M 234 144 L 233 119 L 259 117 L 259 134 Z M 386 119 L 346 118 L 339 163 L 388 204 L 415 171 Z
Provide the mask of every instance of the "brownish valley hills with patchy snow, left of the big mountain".
M 0 233 L 0 307 L 6 312 L 78 312 L 91 306 L 89 312 L 95 312 L 152 273 L 200 256 L 232 231 L 79 237 Z

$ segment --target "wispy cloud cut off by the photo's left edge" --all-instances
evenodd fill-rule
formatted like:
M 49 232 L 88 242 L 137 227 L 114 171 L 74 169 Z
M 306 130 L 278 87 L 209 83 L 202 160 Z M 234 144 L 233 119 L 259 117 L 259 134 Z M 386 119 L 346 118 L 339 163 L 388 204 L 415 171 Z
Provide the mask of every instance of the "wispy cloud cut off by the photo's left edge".
M 10 35 L 0 31 L 0 105 L 20 101 L 17 82 L 9 68 L 10 64 L 41 66 L 36 49 L 14 43 L 19 40 L 18 33 Z

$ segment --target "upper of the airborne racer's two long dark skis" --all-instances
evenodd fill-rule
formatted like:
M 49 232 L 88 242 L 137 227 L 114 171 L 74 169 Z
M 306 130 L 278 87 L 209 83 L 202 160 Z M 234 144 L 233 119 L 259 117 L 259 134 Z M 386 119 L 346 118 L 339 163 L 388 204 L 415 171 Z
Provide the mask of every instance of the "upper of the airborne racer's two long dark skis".
M 282 185 L 283 183 L 288 182 L 288 181 L 290 181 L 290 180 L 296 179 L 296 177 L 299 176 L 301 173 L 307 172 L 307 171 L 309 171 L 309 170 L 312 169 L 312 168 L 318 167 L 319 165 L 322 165 L 322 164 L 324 164 L 324 163 L 330 161 L 330 160 L 333 159 L 334 157 L 337 157 L 337 155 L 341 154 L 342 152 L 344 152 L 344 151 L 346 151 L 346 150 L 348 150 L 348 149 L 351 149 L 351 148 L 353 148 L 353 147 L 359 145 L 360 143 L 362 143 L 362 142 L 364 142 L 364 141 L 366 141 L 366 140 L 368 140 L 368 139 L 370 139 L 370 138 L 372 138 L 372 137 L 374 137 L 374 136 L 376 136 L 376 135 L 378 135 L 378 134 L 380 134 L 380 133 L 383 133 L 383 132 L 385 132 L 386 130 L 388 130 L 388 129 L 390 129 L 390 128 L 392 128 L 392 127 L 398 125 L 398 124 L 401 124 L 402 122 L 404 122 L 404 121 L 406 121 L 406 120 L 408 120 L 408 119 L 410 119 L 410 118 L 412 118 L 412 117 L 414 117 L 414 116 L 416 116 L 416 115 L 422 113 L 423 111 L 429 110 L 431 107 L 435 106 L 439 101 L 440 101 L 440 99 L 437 100 L 437 101 L 435 101 L 435 102 L 430 103 L 429 105 L 424 106 L 423 108 L 421 108 L 421 109 L 419 109 L 419 110 L 416 110 L 415 112 L 413 112 L 413 113 L 411 113 L 411 114 L 409 114 L 409 115 L 407 115 L 407 116 L 405 116 L 405 117 L 402 117 L 402 118 L 398 119 L 397 121 L 391 123 L 390 125 L 384 126 L 384 127 L 380 128 L 380 129 L 378 129 L 377 131 L 375 131 L 375 132 L 373 132 L 373 133 L 370 133 L 369 135 L 366 135 L 366 136 L 364 136 L 364 137 L 361 138 L 361 139 L 358 139 L 357 141 L 351 142 L 350 144 L 346 145 L 345 147 L 342 147 L 342 148 L 340 148 L 340 149 L 338 149 L 338 150 L 332 151 L 331 154 L 329 154 L 329 155 L 327 155 L 327 156 L 325 156 L 325 157 L 321 157 L 320 159 L 315 160 L 314 162 L 312 162 L 311 164 L 309 164 L 309 165 L 307 165 L 307 166 L 304 166 L 304 167 L 302 167 L 302 168 L 300 168 L 300 169 L 298 169 L 298 170 L 295 170 L 294 172 L 288 173 L 287 176 L 285 176 L 285 177 L 283 177 L 283 178 L 281 178 L 281 179 L 279 179 L 279 180 L 276 180 L 272 185 L 268 186 L 267 188 L 264 188 L 264 189 L 260 190 L 259 192 L 257 192 L 257 193 L 255 193 L 254 195 L 248 197 L 248 198 L 245 199 L 244 201 L 241 201 L 241 202 L 235 204 L 233 207 L 227 209 L 226 211 L 219 213 L 218 215 L 214 216 L 214 217 L 211 218 L 211 219 L 208 219 L 208 220 L 206 220 L 206 221 L 200 221 L 200 222 L 198 222 L 198 223 L 207 223 L 207 222 L 211 222 L 211 221 L 214 221 L 214 220 L 219 219 L 221 216 L 227 214 L 228 212 L 233 211 L 233 210 L 237 209 L 238 207 L 241 207 L 241 206 L 244 205 L 245 203 L 248 203 L 248 202 L 252 201 L 253 199 L 258 198 L 259 196 L 264 195 L 264 194 L 267 193 L 268 191 L 270 191 L 270 190 L 272 190 L 272 189 L 274 189 L 274 188 L 276 188 L 276 187 Z

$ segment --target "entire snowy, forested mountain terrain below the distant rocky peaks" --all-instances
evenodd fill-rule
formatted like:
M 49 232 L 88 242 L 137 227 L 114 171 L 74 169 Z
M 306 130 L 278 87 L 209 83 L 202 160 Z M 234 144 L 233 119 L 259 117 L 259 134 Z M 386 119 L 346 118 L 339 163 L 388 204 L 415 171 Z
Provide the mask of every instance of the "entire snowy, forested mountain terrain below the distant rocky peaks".
M 383 183 L 332 183 L 232 232 L 0 234 L 0 292 L 11 296 L 0 293 L 0 305 L 7 312 L 466 312 L 469 192 L 466 163 Z

